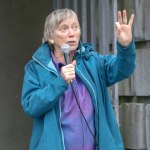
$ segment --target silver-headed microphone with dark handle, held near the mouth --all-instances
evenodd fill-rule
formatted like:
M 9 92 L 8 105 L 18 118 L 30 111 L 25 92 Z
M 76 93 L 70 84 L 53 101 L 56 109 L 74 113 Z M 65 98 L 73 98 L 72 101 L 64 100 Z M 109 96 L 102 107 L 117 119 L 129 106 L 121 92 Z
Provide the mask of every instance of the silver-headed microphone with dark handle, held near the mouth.
M 68 44 L 62 45 L 61 52 L 64 54 L 66 64 L 70 64 L 70 46 Z

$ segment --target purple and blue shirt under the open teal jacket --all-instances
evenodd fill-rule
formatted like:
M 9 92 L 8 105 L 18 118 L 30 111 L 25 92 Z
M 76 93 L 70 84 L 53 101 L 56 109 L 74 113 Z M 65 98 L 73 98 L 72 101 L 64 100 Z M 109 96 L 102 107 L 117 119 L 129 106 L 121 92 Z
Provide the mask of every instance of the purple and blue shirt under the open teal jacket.
M 57 62 L 51 54 L 52 61 L 60 72 L 63 64 Z M 94 111 L 89 92 L 79 77 L 73 80 L 73 87 L 88 125 L 95 134 Z M 61 98 L 61 126 L 66 150 L 94 150 L 94 139 L 78 108 L 71 85 Z

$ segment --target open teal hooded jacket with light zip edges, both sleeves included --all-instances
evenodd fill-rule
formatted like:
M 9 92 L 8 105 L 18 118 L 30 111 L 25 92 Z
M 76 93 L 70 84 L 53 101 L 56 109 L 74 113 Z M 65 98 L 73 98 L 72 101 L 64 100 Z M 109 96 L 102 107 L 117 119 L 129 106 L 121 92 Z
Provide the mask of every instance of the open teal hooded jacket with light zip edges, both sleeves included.
M 128 78 L 135 68 L 134 42 L 117 43 L 117 55 L 101 55 L 91 44 L 80 44 L 76 74 L 87 87 L 94 106 L 96 140 L 100 150 L 124 150 L 107 87 Z M 68 89 L 57 72 L 48 43 L 42 44 L 25 66 L 22 107 L 33 118 L 30 150 L 65 150 L 60 125 L 60 97 Z

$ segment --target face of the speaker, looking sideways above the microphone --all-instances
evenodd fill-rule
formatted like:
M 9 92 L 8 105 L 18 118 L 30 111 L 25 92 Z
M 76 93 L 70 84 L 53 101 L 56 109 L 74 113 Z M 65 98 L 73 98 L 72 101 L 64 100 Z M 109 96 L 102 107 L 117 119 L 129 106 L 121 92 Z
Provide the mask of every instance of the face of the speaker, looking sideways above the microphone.
M 71 51 L 76 50 L 80 39 L 78 20 L 76 18 L 64 20 L 54 30 L 51 39 L 54 41 L 54 49 L 56 51 L 60 51 L 63 44 L 68 44 Z

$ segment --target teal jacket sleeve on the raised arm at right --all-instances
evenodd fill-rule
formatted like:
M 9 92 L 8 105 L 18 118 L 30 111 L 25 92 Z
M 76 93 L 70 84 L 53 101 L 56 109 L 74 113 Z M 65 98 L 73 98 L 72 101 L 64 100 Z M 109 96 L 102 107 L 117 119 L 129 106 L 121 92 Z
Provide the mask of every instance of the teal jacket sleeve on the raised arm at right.
M 104 70 L 106 85 L 111 86 L 125 78 L 134 71 L 136 64 L 136 53 L 134 41 L 128 47 L 117 43 L 117 55 L 104 56 Z

